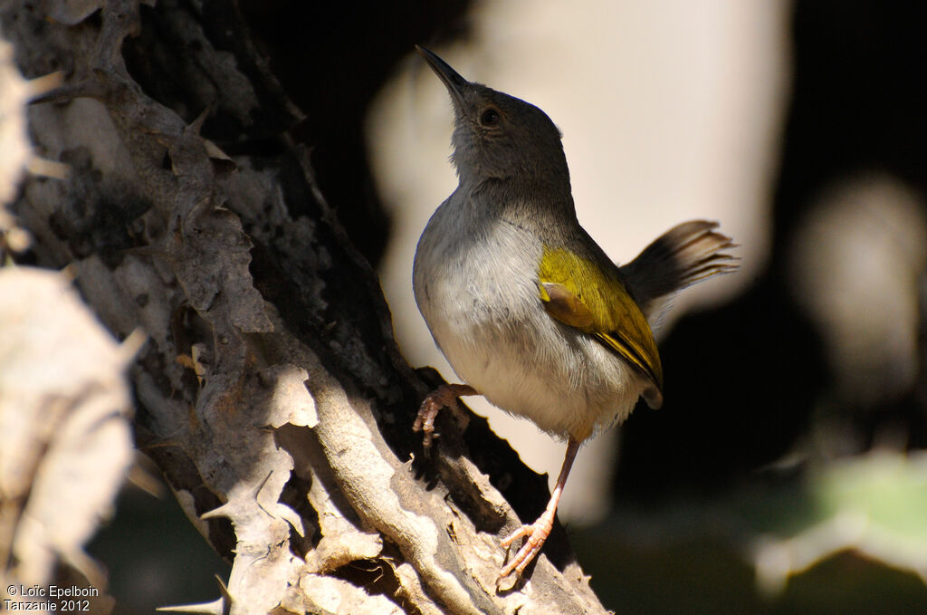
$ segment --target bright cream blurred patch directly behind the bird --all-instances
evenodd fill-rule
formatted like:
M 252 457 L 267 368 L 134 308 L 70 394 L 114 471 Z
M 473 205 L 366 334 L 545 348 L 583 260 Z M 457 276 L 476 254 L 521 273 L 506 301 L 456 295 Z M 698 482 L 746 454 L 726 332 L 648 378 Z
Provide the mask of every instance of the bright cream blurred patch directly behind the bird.
M 665 335 L 687 310 L 743 294 L 767 264 L 771 177 L 789 86 L 786 18 L 787 6 L 768 0 L 603 2 L 583 10 L 482 3 L 472 8 L 468 41 L 436 51 L 468 79 L 547 111 L 564 133 L 580 223 L 618 262 L 693 218 L 721 221 L 743 244 L 741 273 L 681 293 Z M 410 272 L 428 217 L 457 184 L 448 161 L 451 120 L 443 84 L 413 55 L 375 99 L 367 131 L 393 219 L 381 272 L 396 334 L 413 365 L 436 365 L 447 378 L 453 372 L 415 307 Z M 556 478 L 562 442 L 481 398 L 466 402 L 489 416 L 527 464 Z M 618 430 L 609 431 L 579 455 L 565 518 L 588 522 L 606 513 L 618 439 Z

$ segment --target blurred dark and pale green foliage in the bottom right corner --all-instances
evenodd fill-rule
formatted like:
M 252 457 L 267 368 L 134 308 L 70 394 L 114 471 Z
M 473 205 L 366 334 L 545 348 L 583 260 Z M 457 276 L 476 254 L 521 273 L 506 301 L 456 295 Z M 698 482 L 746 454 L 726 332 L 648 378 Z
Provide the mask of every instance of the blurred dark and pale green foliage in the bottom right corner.
M 927 613 L 927 455 L 768 472 L 573 533 L 616 613 Z

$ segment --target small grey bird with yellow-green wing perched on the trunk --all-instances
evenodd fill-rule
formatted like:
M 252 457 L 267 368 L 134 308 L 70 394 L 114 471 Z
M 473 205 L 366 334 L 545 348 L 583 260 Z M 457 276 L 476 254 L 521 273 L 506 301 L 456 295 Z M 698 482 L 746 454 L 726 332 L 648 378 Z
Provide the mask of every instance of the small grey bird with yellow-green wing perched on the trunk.
M 663 404 L 653 330 L 669 302 L 736 270 L 725 250 L 737 246 L 716 222 L 693 220 L 619 266 L 578 222 L 562 134 L 547 114 L 416 50 L 451 97 L 458 186 L 419 238 L 413 291 L 463 382 L 429 393 L 413 430 L 427 450 L 438 411 L 482 395 L 566 442 L 540 518 L 501 541 L 510 553 L 525 539 L 499 574 L 520 578 L 552 530 L 580 445 L 624 421 L 641 397 Z

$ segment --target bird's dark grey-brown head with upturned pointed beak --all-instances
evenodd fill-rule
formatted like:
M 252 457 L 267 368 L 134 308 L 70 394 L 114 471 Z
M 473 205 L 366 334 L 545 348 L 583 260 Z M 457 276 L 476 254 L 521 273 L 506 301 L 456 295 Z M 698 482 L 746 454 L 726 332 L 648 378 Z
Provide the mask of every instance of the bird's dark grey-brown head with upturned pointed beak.
M 462 181 L 519 179 L 569 187 L 561 133 L 534 105 L 464 79 L 416 47 L 448 89 L 454 106 L 454 153 Z

